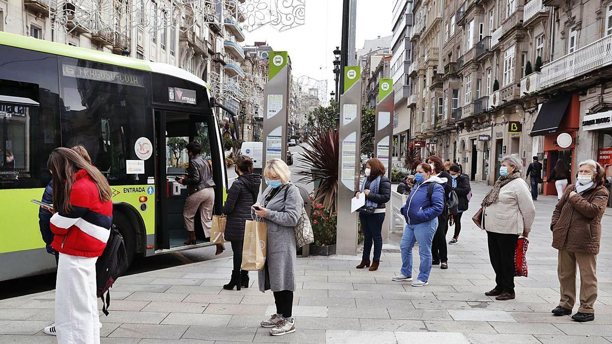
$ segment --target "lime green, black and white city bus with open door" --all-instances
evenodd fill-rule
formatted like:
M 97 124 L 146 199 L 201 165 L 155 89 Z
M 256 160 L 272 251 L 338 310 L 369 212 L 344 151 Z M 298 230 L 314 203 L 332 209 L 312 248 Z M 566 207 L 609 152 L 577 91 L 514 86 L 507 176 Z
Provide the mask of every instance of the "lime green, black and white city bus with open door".
M 227 177 L 207 87 L 168 64 L 0 32 L 0 280 L 55 269 L 30 200 L 40 200 L 59 146 L 82 144 L 108 178 L 130 262 L 209 245 L 203 236 L 183 244 L 187 195 L 175 181 L 188 163 L 177 147 L 200 142 L 220 212 Z

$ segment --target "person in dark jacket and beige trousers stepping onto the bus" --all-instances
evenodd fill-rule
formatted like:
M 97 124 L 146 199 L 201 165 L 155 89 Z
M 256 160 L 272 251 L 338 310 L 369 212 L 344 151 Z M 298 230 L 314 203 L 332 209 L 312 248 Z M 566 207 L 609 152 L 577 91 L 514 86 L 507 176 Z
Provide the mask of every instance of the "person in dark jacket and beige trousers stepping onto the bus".
M 215 205 L 215 182 L 212 180 L 212 168 L 208 160 L 202 155 L 200 143 L 192 142 L 187 144 L 187 155 L 189 155 L 189 166 L 187 175 L 179 179 L 179 184 L 187 185 L 187 200 L 183 208 L 185 219 L 185 229 L 189 236 L 185 240 L 185 245 L 195 245 L 195 213 L 200 209 L 200 220 L 206 237 L 211 236 L 212 208 Z M 217 244 L 219 255 L 225 248 L 223 244 Z

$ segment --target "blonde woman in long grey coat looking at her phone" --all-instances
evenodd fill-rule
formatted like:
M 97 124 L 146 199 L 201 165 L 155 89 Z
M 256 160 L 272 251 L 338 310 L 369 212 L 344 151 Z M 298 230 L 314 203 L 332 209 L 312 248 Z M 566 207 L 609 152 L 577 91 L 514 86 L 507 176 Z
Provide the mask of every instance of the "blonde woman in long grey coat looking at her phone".
M 264 219 L 267 225 L 267 257 L 259 271 L 259 290 L 272 290 L 276 314 L 261 322 L 272 327 L 271 335 L 295 332 L 293 292 L 296 290 L 296 233 L 295 226 L 302 214 L 304 201 L 299 189 L 291 182 L 286 163 L 272 159 L 266 163 L 263 177 L 268 187 L 253 205 L 253 219 Z

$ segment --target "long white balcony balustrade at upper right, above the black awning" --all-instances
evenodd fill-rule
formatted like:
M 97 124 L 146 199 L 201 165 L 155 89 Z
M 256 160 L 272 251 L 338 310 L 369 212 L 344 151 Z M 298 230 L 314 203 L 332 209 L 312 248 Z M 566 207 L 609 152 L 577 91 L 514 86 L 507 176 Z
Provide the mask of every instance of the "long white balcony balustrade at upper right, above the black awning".
M 540 89 L 570 81 L 612 64 L 612 35 L 542 66 Z

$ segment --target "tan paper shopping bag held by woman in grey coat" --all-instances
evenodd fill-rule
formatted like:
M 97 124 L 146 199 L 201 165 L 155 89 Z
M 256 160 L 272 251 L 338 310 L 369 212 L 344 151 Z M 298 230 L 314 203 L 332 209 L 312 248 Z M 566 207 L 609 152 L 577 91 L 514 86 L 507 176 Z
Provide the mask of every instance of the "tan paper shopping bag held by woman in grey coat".
M 244 225 L 242 245 L 242 270 L 256 271 L 266 263 L 267 225 L 265 222 L 247 220 Z

